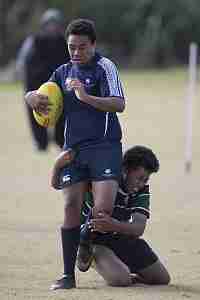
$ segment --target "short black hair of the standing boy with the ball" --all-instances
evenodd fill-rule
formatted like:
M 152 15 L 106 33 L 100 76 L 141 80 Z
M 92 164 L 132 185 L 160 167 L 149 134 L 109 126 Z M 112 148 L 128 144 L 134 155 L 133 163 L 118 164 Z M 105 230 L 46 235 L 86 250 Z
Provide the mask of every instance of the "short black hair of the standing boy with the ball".
M 70 34 L 86 35 L 92 43 L 96 41 L 95 25 L 94 22 L 89 19 L 75 19 L 69 23 L 65 30 L 66 41 Z

